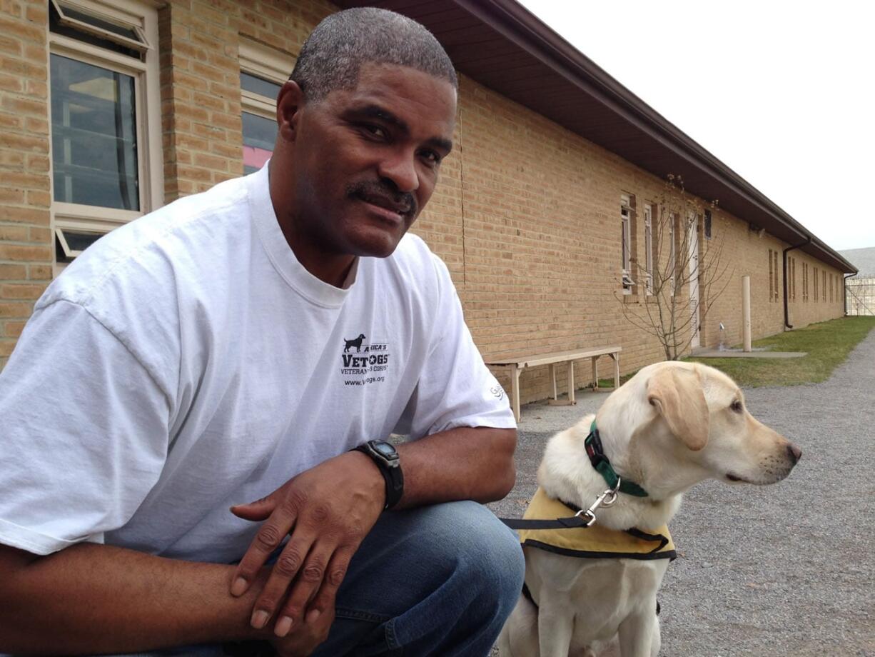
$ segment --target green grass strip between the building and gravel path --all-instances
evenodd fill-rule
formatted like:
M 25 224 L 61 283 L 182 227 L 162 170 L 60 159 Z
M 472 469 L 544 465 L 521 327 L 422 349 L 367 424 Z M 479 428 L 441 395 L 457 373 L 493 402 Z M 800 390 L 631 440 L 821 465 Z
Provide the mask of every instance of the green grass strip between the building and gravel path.
M 875 317 L 841 317 L 809 324 L 753 342 L 771 351 L 806 351 L 802 358 L 687 358 L 711 365 L 739 385 L 802 385 L 820 383 L 842 364 L 854 347 L 875 329 Z

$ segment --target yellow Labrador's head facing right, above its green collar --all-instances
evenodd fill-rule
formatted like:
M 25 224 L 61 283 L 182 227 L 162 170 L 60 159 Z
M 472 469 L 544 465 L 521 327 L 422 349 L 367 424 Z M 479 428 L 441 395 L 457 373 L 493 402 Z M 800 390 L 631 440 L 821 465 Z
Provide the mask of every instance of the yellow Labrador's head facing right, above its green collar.
M 774 484 L 802 456 L 802 450 L 748 412 L 732 378 L 706 365 L 649 365 L 614 397 L 599 411 L 599 426 L 610 422 L 607 434 L 622 431 L 622 423 L 609 418 L 623 413 L 623 406 L 634 408 L 626 414 L 633 425 L 626 427 L 628 456 L 636 470 L 658 473 L 661 480 Z M 606 406 L 609 413 L 604 413 Z

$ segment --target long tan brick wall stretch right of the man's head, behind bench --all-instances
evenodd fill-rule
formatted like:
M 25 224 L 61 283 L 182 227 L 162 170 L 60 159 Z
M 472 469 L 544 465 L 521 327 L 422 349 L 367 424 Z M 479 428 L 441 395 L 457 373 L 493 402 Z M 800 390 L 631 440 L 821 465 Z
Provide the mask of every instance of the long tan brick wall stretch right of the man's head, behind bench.
M 622 313 L 643 316 L 647 308 L 642 281 L 633 295 L 621 293 L 620 194 L 634 194 L 633 258 L 643 263 L 643 203 L 660 199 L 663 180 L 465 76 L 456 138 L 459 147 L 442 171 L 436 201 L 414 230 L 455 265 L 465 317 L 484 356 L 619 344 L 623 372 L 661 360 L 661 345 Z M 708 207 L 707 200 L 699 201 Z M 460 245 L 448 241 L 460 236 Z M 744 275 L 751 276 L 754 338 L 780 332 L 781 251 L 788 244 L 760 236 L 746 221 L 720 210 L 713 215 L 712 236 L 700 242 L 702 256 L 723 239 L 722 261 L 731 266 L 724 293 L 702 318 L 701 343 L 718 345 L 721 321 L 725 343 L 741 342 Z M 770 296 L 769 249 L 779 253 L 778 300 Z M 841 316 L 840 296 L 815 301 L 812 287 L 811 300 L 802 302 L 801 263 L 825 267 L 800 251 L 791 253 L 799 258 L 791 323 L 800 328 Z M 688 297 L 689 289 L 682 295 Z M 602 376 L 611 371 L 609 365 L 604 359 Z M 589 363 L 576 368 L 578 383 L 584 383 Z M 556 377 L 562 387 L 563 367 Z M 507 378 L 502 383 L 509 385 Z M 523 376 L 523 400 L 549 393 L 547 367 Z

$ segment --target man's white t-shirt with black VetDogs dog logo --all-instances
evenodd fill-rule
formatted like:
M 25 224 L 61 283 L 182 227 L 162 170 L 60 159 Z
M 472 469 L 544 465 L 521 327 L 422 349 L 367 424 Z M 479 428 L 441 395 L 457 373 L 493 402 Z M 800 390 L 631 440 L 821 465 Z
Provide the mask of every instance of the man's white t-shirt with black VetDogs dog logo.
M 0 376 L 0 542 L 230 562 L 230 505 L 390 433 L 514 427 L 444 264 L 407 235 L 345 289 L 286 244 L 267 166 L 113 231 Z

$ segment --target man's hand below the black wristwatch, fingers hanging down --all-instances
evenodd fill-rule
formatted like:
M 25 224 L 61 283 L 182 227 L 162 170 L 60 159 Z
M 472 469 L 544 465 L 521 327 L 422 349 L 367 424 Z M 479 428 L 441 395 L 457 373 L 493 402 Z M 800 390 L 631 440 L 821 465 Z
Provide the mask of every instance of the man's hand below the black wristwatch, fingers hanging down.
M 385 491 L 374 462 L 360 452 L 347 452 L 305 470 L 266 498 L 231 508 L 242 519 L 266 519 L 232 576 L 234 596 L 248 589 L 269 555 L 291 534 L 255 600 L 251 619 L 261 629 L 276 618 L 277 637 L 293 630 L 297 634 L 300 628 L 301 637 L 290 641 L 300 645 L 279 642 L 281 654 L 308 654 L 325 639 L 338 587 L 355 550 L 380 517 Z M 321 639 L 308 646 L 308 636 Z

